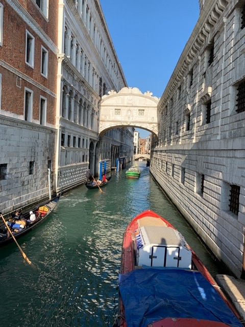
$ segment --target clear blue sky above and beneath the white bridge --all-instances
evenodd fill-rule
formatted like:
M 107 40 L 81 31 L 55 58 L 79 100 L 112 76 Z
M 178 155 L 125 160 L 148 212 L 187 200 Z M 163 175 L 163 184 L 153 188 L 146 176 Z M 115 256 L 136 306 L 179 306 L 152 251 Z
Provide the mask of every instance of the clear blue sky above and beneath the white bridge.
M 128 86 L 160 98 L 198 20 L 199 1 L 100 2 Z

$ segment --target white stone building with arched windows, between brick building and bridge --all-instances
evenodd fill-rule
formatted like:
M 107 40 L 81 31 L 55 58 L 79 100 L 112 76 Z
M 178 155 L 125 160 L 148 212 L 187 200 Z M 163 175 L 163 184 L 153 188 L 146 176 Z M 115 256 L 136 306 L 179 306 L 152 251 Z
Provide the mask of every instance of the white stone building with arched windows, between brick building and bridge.
M 133 142 L 128 128 L 99 137 L 101 98 L 127 85 L 100 2 L 60 0 L 58 31 L 57 191 L 84 182 L 88 168 L 98 175 L 100 161 L 110 170 Z

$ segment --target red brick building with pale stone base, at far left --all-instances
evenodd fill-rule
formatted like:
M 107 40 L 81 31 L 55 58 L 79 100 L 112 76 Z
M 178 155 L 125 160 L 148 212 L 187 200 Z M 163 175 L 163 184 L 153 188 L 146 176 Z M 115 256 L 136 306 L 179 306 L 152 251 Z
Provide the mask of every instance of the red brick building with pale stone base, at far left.
M 57 24 L 54 0 L 0 1 L 1 211 L 48 196 L 55 166 Z

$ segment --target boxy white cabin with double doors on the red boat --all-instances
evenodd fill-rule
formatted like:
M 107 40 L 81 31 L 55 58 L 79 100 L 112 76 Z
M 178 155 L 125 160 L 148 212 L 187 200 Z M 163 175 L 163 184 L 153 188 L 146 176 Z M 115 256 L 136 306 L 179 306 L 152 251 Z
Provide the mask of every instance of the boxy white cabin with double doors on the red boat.
M 191 250 L 178 230 L 163 226 L 139 226 L 135 230 L 137 266 L 191 269 Z

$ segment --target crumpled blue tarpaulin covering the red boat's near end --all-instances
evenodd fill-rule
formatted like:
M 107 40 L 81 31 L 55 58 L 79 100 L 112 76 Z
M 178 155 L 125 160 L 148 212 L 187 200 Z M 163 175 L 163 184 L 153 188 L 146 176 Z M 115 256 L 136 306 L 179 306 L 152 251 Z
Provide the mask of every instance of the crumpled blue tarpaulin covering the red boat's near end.
M 197 318 L 242 327 L 215 288 L 198 271 L 136 269 L 119 275 L 127 327 L 163 318 Z

